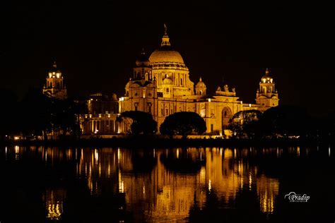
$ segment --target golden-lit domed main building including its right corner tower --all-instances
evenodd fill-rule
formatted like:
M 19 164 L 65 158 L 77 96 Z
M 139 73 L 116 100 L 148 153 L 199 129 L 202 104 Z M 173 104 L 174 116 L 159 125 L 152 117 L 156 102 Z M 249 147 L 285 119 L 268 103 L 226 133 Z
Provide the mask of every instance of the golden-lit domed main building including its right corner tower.
M 206 85 L 196 85 L 189 78 L 189 68 L 179 52 L 171 48 L 166 27 L 160 48 L 149 58 L 142 52 L 136 60 L 133 77 L 125 87 L 125 96 L 119 99 L 119 111 L 145 111 L 158 122 L 158 130 L 166 116 L 177 111 L 194 111 L 206 121 L 207 132 L 225 134 L 228 121 L 238 111 L 257 109 L 265 111 L 278 105 L 274 79 L 266 69 L 259 83 L 256 104 L 243 104 L 235 88 L 218 87 L 209 96 Z

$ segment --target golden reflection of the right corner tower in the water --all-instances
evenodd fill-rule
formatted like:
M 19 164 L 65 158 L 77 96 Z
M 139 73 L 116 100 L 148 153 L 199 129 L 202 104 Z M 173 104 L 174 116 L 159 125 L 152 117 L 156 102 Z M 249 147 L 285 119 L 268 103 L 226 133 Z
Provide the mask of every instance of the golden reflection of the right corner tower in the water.
M 261 212 L 274 212 L 274 203 L 279 191 L 279 181 L 261 175 L 257 177 L 256 185 Z

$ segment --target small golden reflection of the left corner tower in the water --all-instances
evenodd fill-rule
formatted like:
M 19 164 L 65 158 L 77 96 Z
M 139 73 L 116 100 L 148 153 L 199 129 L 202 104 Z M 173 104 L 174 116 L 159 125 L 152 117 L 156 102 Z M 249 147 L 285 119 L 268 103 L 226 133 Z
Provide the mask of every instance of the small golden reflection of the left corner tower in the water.
M 43 202 L 47 209 L 47 219 L 59 220 L 63 213 L 66 191 L 63 188 L 47 189 L 43 194 Z

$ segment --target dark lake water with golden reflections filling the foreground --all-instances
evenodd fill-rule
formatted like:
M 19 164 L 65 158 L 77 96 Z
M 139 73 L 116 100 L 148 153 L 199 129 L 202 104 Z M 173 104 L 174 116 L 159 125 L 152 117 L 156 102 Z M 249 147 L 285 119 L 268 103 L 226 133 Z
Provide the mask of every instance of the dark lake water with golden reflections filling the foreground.
M 1 147 L 0 222 L 334 222 L 334 157 L 327 146 Z

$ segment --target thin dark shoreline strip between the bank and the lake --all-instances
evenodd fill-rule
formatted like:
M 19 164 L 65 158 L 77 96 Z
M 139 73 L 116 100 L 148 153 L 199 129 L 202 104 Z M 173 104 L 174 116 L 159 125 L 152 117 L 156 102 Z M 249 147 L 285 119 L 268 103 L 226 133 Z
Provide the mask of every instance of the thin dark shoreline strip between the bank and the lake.
M 177 138 L 91 138 L 80 140 L 11 140 L 0 141 L 2 146 L 59 146 L 59 147 L 278 147 L 330 146 L 334 141 L 281 139 L 177 139 Z

